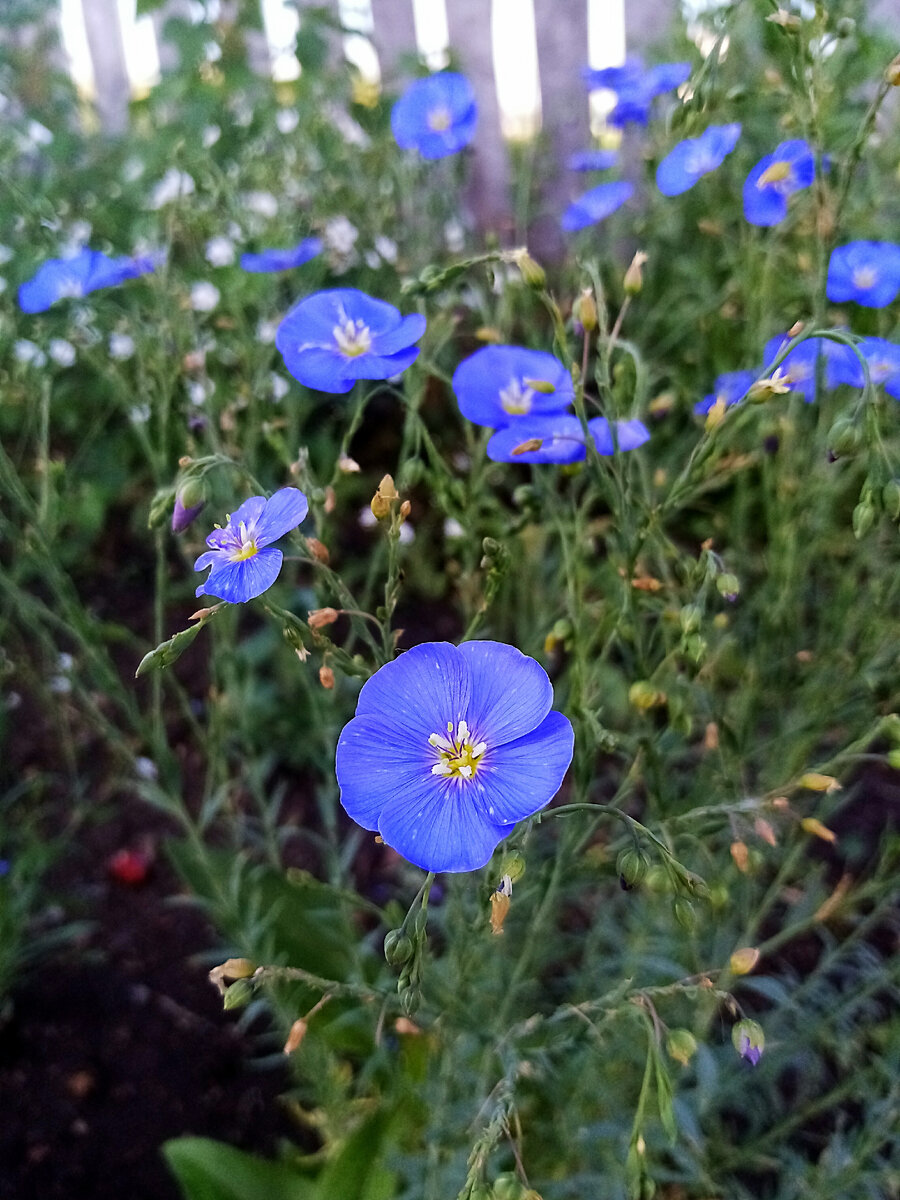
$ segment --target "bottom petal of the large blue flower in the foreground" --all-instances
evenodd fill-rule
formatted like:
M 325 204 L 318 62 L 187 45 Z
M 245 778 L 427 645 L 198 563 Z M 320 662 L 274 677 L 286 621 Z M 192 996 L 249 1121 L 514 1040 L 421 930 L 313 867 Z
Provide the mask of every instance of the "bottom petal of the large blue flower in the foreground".
M 424 871 L 475 871 L 493 854 L 509 828 L 482 816 L 464 779 L 432 775 L 420 788 L 395 792 L 378 832 Z

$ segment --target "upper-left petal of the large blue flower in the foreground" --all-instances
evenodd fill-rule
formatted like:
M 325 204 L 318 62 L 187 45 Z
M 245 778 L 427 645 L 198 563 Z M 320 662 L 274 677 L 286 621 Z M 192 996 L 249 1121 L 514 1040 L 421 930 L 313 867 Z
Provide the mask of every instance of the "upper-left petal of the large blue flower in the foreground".
M 449 642 L 424 642 L 385 664 L 362 685 L 358 716 L 378 718 L 397 739 L 428 746 L 432 733 L 446 734 L 466 719 L 469 668 Z M 428 746 L 428 749 L 431 749 Z

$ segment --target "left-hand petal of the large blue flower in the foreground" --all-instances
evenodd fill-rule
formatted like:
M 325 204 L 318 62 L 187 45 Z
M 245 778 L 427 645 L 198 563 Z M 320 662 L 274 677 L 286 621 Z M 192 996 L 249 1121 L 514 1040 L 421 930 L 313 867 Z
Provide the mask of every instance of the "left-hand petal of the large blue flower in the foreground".
M 426 740 L 397 737 L 390 714 L 354 716 L 341 731 L 335 755 L 341 804 L 364 829 L 377 829 L 395 792 L 433 784 L 431 768 L 437 761 Z

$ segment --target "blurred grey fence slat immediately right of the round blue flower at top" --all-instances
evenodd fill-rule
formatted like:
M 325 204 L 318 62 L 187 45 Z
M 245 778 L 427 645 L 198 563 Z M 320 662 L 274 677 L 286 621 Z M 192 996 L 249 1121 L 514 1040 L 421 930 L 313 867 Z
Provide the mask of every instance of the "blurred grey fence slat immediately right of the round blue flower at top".
M 491 10 L 491 0 L 448 0 L 446 23 L 450 47 L 456 52 L 478 101 L 468 205 L 478 228 L 482 233 L 497 232 L 504 241 L 508 239 L 503 235 L 512 224 L 510 170 L 493 72 Z

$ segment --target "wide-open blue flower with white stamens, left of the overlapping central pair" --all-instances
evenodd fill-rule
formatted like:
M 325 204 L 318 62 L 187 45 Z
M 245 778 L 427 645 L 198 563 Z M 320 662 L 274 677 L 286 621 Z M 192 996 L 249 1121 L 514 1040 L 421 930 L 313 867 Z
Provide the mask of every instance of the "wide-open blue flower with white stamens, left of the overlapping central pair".
M 394 305 L 356 288 L 316 292 L 278 325 L 275 344 L 300 383 L 319 391 L 349 391 L 358 379 L 390 379 L 419 355 L 413 346 L 425 317 L 401 317 Z

